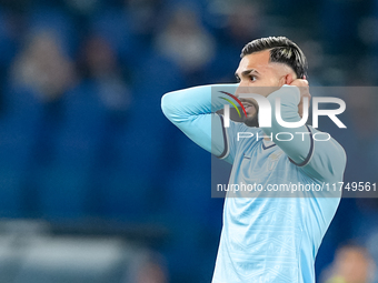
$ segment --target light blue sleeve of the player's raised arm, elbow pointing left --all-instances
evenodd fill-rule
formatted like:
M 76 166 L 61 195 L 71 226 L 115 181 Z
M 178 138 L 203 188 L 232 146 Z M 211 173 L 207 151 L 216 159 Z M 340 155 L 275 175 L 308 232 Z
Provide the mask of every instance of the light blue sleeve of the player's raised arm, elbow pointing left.
M 229 142 L 223 118 L 216 111 L 223 108 L 225 101 L 211 95 L 211 88 L 225 87 L 236 90 L 237 84 L 217 84 L 189 88 L 165 94 L 161 109 L 165 115 L 189 139 L 220 159 L 232 161 L 235 144 Z M 235 123 L 230 122 L 230 128 Z

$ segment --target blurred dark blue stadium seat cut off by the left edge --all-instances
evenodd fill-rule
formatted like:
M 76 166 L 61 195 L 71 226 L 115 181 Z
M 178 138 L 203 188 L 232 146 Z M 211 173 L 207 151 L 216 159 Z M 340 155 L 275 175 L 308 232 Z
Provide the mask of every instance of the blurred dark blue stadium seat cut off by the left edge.
M 30 90 L 8 85 L 0 119 L 0 212 L 21 213 L 21 183 L 30 168 L 41 103 Z

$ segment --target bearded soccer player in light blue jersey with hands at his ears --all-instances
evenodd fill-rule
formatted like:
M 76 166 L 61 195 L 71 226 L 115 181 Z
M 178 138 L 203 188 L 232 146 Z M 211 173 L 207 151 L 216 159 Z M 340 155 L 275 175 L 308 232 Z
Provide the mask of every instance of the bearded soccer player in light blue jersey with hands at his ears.
M 306 69 L 305 54 L 289 39 L 257 39 L 241 51 L 237 85 L 205 85 L 167 93 L 162 111 L 193 142 L 232 164 L 229 184 L 258 183 L 267 191 L 273 184 L 320 188 L 337 183 L 342 181 L 346 165 L 339 143 L 332 138 L 317 141 L 314 135 L 319 131 L 308 124 L 284 128 L 273 114 L 271 127 L 252 127 L 258 122 L 259 105 L 251 98 L 241 98 L 242 93 L 265 97 L 271 113 L 279 98 L 282 120 L 301 121 L 305 98 L 310 98 Z M 225 88 L 225 92 L 211 95 L 213 88 Z M 217 113 L 225 100 L 218 94 L 230 88 L 240 98 L 247 117 L 243 122 L 229 121 L 225 127 L 225 118 Z M 263 138 L 238 139 L 238 132 Z M 295 138 L 284 141 L 277 138 L 280 132 Z M 341 193 L 307 191 L 292 198 L 275 198 L 273 193 L 227 193 L 212 283 L 315 282 L 315 257 Z

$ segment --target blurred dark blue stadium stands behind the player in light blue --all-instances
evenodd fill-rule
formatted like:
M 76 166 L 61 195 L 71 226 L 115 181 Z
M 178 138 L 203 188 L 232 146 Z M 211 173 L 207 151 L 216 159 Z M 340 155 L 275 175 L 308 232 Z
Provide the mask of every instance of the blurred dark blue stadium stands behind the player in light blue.
M 304 49 L 311 85 L 378 83 L 377 0 L 1 0 L 0 282 L 210 282 L 222 200 L 160 98 L 235 82 L 266 36 Z M 377 182 L 378 102 L 348 99 L 346 181 Z M 341 201 L 318 282 L 378 282 L 377 216 Z

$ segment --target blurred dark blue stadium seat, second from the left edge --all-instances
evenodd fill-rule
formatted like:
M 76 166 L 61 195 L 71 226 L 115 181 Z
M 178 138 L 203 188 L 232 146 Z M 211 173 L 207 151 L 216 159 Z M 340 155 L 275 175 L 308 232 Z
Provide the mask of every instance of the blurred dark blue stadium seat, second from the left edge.
M 87 213 L 88 180 L 101 137 L 103 109 L 86 83 L 64 94 L 61 103 L 52 161 L 40 169 L 37 186 L 42 214 L 80 218 Z

